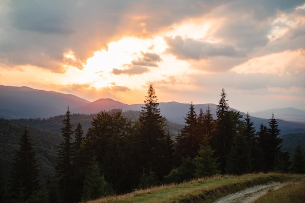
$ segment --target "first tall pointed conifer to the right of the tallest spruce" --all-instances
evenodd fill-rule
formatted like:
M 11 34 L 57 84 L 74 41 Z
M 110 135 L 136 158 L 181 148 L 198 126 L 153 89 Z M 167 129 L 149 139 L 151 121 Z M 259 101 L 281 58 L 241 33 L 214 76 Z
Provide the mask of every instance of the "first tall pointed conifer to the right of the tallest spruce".
M 197 155 L 197 151 L 203 141 L 203 137 L 200 137 L 197 128 L 197 115 L 194 105 L 191 103 L 190 111 L 188 112 L 187 117 L 185 117 L 185 126 L 181 129 L 181 132 L 176 138 L 175 153 L 179 157 L 194 158 Z

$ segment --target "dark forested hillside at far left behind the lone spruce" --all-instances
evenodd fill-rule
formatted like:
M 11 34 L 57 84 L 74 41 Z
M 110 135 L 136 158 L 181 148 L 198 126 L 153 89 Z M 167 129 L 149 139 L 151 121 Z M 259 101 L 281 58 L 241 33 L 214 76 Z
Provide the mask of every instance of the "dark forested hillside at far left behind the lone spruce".
M 0 118 L 0 166 L 7 180 L 11 170 L 11 162 L 15 152 L 19 150 L 19 138 L 24 131 L 24 125 Z M 57 146 L 62 136 L 58 133 L 27 127 L 33 140 L 36 158 L 38 159 L 39 175 L 43 180 L 55 174 L 54 165 Z

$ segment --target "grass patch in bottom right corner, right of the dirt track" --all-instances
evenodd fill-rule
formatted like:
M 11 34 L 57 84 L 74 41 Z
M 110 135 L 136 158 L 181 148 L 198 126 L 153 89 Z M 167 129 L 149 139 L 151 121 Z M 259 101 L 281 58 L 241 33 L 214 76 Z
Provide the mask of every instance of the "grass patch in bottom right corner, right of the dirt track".
M 305 182 L 289 183 L 280 189 L 270 190 L 254 203 L 304 203 Z

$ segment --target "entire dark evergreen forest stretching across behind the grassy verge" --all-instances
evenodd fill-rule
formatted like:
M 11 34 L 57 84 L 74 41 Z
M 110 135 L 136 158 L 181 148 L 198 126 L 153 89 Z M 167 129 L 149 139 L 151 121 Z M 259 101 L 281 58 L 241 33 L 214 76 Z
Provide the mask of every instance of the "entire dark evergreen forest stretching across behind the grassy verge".
M 229 111 L 228 101 L 222 89 L 216 119 L 209 107 L 197 114 L 191 103 L 185 125 L 170 130 L 151 84 L 142 111 L 129 118 L 119 110 L 101 111 L 83 126 L 71 120 L 68 107 L 62 125 L 54 126 L 60 136 L 48 132 L 45 140 L 40 131 L 33 136 L 31 127 L 9 123 L 18 126 L 18 148 L 11 168 L 1 163 L 0 202 L 76 203 L 215 174 L 305 173 L 304 149 L 296 143 L 289 156 L 273 114 L 268 126 L 255 129 L 249 114 Z M 42 160 L 38 151 L 50 159 Z

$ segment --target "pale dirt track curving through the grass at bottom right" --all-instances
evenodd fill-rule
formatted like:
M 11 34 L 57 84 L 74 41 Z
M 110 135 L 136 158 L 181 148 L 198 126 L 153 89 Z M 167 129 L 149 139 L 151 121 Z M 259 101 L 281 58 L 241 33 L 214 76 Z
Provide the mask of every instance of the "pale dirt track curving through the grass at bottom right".
M 214 203 L 253 203 L 255 200 L 265 195 L 269 189 L 279 189 L 285 184 L 283 183 L 270 183 L 266 185 L 256 185 L 249 187 L 245 190 L 230 194 L 217 200 Z

